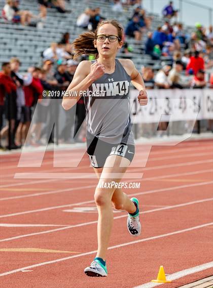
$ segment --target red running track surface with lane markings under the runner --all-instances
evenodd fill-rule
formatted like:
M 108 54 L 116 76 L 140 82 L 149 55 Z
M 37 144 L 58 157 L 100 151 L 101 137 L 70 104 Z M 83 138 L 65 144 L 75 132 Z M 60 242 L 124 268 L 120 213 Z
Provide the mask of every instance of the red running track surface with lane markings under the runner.
M 97 249 L 95 178 L 14 179 L 17 173 L 92 173 L 85 155 L 78 168 L 53 167 L 53 152 L 40 168 L 17 167 L 20 154 L 1 159 L 1 288 L 133 288 L 166 274 L 212 261 L 212 142 L 137 145 L 130 173 L 144 174 L 138 189 L 124 189 L 140 203 L 141 236 L 129 235 L 126 213 L 115 211 L 106 278 L 83 270 Z M 82 149 L 59 152 L 61 163 Z M 30 160 L 31 158 L 31 160 Z M 28 153 L 28 163 L 36 159 Z M 146 167 L 142 167 L 146 164 Z M 10 225 L 9 225 L 10 224 Z M 192 270 L 193 272 L 193 270 Z M 164 284 L 180 287 L 212 268 Z

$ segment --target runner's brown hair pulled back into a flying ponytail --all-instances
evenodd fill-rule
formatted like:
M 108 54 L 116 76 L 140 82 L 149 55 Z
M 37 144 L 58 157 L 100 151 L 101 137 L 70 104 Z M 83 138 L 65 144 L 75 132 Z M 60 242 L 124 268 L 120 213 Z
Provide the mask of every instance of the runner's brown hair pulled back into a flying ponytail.
M 121 42 L 122 34 L 123 34 L 123 27 L 117 20 L 106 20 L 102 21 L 98 24 L 95 33 L 94 32 L 85 32 L 79 35 L 73 42 L 73 47 L 75 50 L 75 54 L 73 59 L 77 59 L 81 55 L 95 55 L 95 59 L 98 58 L 98 51 L 97 48 L 94 47 L 94 40 L 97 36 L 98 28 L 104 24 L 112 24 L 118 30 L 118 41 Z

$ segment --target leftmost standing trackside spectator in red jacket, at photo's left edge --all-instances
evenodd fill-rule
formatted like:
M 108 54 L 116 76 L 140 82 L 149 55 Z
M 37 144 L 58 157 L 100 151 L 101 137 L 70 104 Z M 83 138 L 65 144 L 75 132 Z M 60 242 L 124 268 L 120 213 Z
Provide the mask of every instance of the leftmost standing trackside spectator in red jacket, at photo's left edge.
M 8 100 L 10 100 L 10 107 L 8 107 Z M 10 112 L 10 115 L 8 115 L 8 112 Z M 2 129 L 4 113 L 7 119 L 7 125 Z M 15 128 L 15 119 L 16 119 L 16 85 L 13 79 L 11 78 L 10 63 L 4 62 L 2 64 L 2 71 L 0 71 L 0 130 L 2 129 L 0 133 L 0 139 L 8 137 L 9 120 L 11 124 L 11 132 L 13 134 L 13 130 Z M 16 145 L 14 144 L 14 137 L 12 137 L 12 148 L 17 148 L 15 146 Z

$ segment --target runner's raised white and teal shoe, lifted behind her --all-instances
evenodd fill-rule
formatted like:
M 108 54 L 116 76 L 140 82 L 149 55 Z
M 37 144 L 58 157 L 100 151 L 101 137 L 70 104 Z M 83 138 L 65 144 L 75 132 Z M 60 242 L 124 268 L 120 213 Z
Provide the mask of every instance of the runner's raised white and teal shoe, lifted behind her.
M 131 198 L 130 200 L 132 202 L 134 202 L 138 208 L 138 203 L 139 203 L 138 199 L 137 198 Z M 140 225 L 140 220 L 139 220 L 139 208 L 138 208 L 138 213 L 134 216 L 132 216 L 128 213 L 127 228 L 128 228 L 129 233 L 132 236 L 137 237 L 140 235 L 141 225 Z

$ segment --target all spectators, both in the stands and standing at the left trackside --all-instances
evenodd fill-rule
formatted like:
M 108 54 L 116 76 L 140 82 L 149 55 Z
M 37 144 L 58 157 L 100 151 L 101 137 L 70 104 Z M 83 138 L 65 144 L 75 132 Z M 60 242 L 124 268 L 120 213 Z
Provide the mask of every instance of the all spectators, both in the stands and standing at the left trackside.
M 66 12 L 63 0 L 38 2 L 41 8 L 39 17 L 45 18 L 46 9 L 53 7 L 52 5 L 58 7 L 58 12 Z M 18 5 L 19 1 L 7 1 L 4 11 L 8 20 L 26 25 L 30 23 L 31 18 L 37 17 L 29 11 L 20 11 Z M 196 23 L 195 30 L 188 35 L 182 23 L 171 24 L 171 18 L 176 16 L 177 11 L 170 2 L 163 10 L 163 16 L 166 18 L 164 24 L 151 32 L 152 18 L 146 16 L 141 0 L 115 0 L 112 9 L 118 11 L 120 7 L 123 10 L 129 5 L 133 6 L 133 14 L 125 27 L 123 52 L 132 51 L 126 43 L 126 36 L 134 37 L 138 40 L 137 44 L 142 44 L 141 39 L 146 34 L 145 53 L 162 64 L 159 71 L 155 71 L 152 66 L 141 68 L 140 72 L 147 89 L 213 88 L 213 73 L 209 78 L 206 77 L 206 69 L 213 67 L 211 26 L 206 30 L 200 23 Z M 10 18 L 8 13 L 11 15 Z M 78 17 L 76 25 L 94 31 L 98 23 L 104 19 L 100 8 L 87 8 Z M 62 143 L 85 141 L 84 130 L 79 129 L 86 113 L 83 99 L 80 99 L 73 109 L 63 111 L 65 125 L 62 129 L 56 129 L 57 135 L 54 135 L 51 127 L 52 119 L 59 113 L 59 105 L 52 99 L 57 98 L 60 101 L 62 91 L 65 91 L 72 81 L 79 61 L 86 59 L 82 57 L 78 62 L 73 60 L 74 52 L 69 37 L 69 33 L 65 32 L 58 43 L 52 43 L 42 52 L 40 67 L 29 67 L 25 75 L 19 73 L 21 62 L 18 58 L 11 58 L 10 62 L 3 63 L 0 72 L 0 148 L 3 142 L 4 146 L 8 145 L 9 128 L 11 147 L 14 149 L 24 143 L 52 143 L 55 136 Z M 170 61 L 169 65 L 163 63 L 165 60 Z M 59 91 L 60 97 L 43 97 L 43 91 L 46 91 L 47 95 L 48 91 Z M 3 119 L 6 119 L 4 127 Z M 160 126 L 162 130 L 166 130 L 166 123 L 161 122 Z M 73 136 L 76 136 L 75 140 Z

